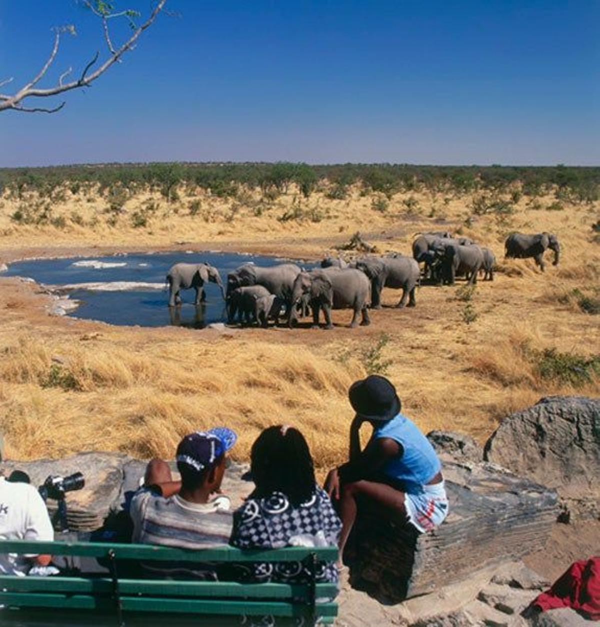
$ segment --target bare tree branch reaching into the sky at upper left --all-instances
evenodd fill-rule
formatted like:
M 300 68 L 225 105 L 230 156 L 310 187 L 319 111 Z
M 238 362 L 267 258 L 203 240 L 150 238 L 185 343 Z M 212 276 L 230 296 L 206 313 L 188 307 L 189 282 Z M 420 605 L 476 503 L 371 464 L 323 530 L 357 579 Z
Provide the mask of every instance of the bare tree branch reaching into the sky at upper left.
M 105 71 L 107 71 L 108 68 L 110 68 L 110 66 L 113 65 L 113 63 L 117 63 L 118 61 L 120 61 L 120 58 L 127 51 L 133 50 L 134 44 L 139 39 L 139 36 L 145 31 L 145 29 L 149 28 L 149 26 L 151 26 L 152 23 L 154 23 L 154 20 L 157 18 L 158 14 L 162 11 L 162 8 L 164 4 L 166 4 L 166 2 L 167 0 L 159 0 L 156 6 L 154 7 L 154 9 L 152 9 L 152 12 L 150 13 L 149 18 L 146 19 L 144 23 L 140 24 L 140 26 L 137 26 L 135 25 L 134 21 L 131 19 L 132 11 L 122 11 L 121 13 L 104 14 L 103 12 L 96 11 L 95 8 L 92 6 L 92 4 L 88 0 L 86 0 L 85 4 L 90 9 L 92 9 L 93 13 L 102 18 L 105 40 L 107 41 L 107 44 L 108 44 L 108 50 L 110 50 L 110 56 L 108 56 L 108 58 L 105 61 L 103 61 L 100 67 L 98 67 L 95 71 L 93 71 L 92 73 L 88 75 L 88 71 L 90 70 L 92 65 L 96 63 L 96 61 L 98 60 L 98 57 L 100 56 L 99 53 L 96 53 L 92 61 L 90 61 L 85 66 L 85 68 L 83 68 L 82 74 L 80 75 L 80 78 L 78 78 L 78 80 L 73 80 L 68 83 L 63 83 L 63 79 L 65 78 L 65 76 L 68 73 L 70 73 L 70 70 L 69 70 L 68 72 L 63 73 L 60 76 L 58 80 L 58 85 L 55 85 L 55 87 L 49 87 L 45 89 L 34 88 L 34 86 L 39 82 L 39 80 L 41 80 L 41 78 L 43 78 L 43 76 L 46 74 L 46 71 L 48 71 L 48 68 L 50 68 L 50 66 L 52 65 L 53 61 L 56 58 L 56 54 L 58 53 L 58 48 L 60 46 L 61 29 L 56 29 L 54 45 L 50 53 L 50 56 L 48 57 L 48 60 L 46 60 L 46 63 L 44 64 L 44 66 L 41 68 L 38 74 L 34 76 L 33 80 L 31 80 L 29 83 L 24 85 L 24 87 L 18 90 L 18 92 L 16 92 L 14 95 L 12 96 L 4 95 L 4 94 L 0 95 L 0 112 L 4 110 L 8 110 L 8 109 L 13 109 L 16 111 L 23 111 L 27 113 L 33 113 L 33 112 L 54 113 L 55 111 L 60 110 L 65 105 L 64 102 L 61 103 L 61 105 L 59 105 L 56 108 L 42 108 L 42 107 L 28 108 L 28 107 L 23 107 L 19 105 L 19 103 L 25 98 L 32 98 L 32 97 L 43 98 L 43 97 L 55 96 L 59 93 L 68 92 L 78 87 L 87 87 L 88 85 L 90 85 L 90 83 L 95 81 L 99 76 L 102 76 L 102 74 Z M 107 19 L 116 18 L 116 17 L 120 17 L 123 15 L 129 18 L 130 24 L 132 24 L 132 27 L 134 27 L 135 29 L 132 35 L 130 36 L 130 38 L 127 41 L 125 41 L 124 44 L 122 44 L 121 46 L 115 49 L 113 47 L 113 43 L 110 38 L 110 33 L 108 32 Z M 72 30 L 72 28 L 70 30 Z M 6 85 L 7 82 L 10 82 L 10 80 L 0 83 L 0 85 Z

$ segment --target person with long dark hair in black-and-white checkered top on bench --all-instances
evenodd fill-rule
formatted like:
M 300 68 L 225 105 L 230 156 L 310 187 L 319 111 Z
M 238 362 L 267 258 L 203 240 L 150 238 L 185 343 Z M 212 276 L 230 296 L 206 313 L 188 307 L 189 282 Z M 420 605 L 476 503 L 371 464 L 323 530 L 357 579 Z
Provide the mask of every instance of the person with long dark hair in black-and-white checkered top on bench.
M 318 487 L 307 441 L 287 425 L 266 428 L 251 450 L 255 490 L 233 515 L 230 543 L 239 549 L 336 545 L 342 527 L 327 493 Z M 244 565 L 246 566 L 246 565 Z M 307 582 L 300 562 L 248 564 L 252 581 Z M 318 582 L 337 582 L 335 564 L 318 564 Z

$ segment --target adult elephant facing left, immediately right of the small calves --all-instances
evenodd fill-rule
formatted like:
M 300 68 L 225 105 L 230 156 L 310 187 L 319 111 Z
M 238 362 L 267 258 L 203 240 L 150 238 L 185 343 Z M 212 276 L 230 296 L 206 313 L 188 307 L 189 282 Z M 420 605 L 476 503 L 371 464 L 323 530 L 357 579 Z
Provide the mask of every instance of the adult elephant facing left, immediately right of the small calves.
M 360 270 L 354 268 L 318 269 L 302 271 L 297 277 L 292 290 L 292 307 L 288 314 L 291 327 L 296 319 L 294 305 L 308 297 L 312 308 L 313 328 L 318 327 L 321 309 L 325 315 L 325 328 L 332 329 L 331 310 L 352 308 L 354 315 L 350 327 L 358 325 L 358 316 L 362 314 L 361 325 L 370 324 L 367 303 L 369 302 L 369 279 Z

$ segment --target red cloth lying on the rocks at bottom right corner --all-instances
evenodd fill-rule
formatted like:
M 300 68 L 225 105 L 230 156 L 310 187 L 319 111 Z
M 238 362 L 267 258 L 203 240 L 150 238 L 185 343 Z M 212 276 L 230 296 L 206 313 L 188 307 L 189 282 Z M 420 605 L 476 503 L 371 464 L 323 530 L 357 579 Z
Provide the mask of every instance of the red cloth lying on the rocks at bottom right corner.
M 547 609 L 572 608 L 592 621 L 600 621 L 600 557 L 571 564 L 552 587 L 532 605 Z

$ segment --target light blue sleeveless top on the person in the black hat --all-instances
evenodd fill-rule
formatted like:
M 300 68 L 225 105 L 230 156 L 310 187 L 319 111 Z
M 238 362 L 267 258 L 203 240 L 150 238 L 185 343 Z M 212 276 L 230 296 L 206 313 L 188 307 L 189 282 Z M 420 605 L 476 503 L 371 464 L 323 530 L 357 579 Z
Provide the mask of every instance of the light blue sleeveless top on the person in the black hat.
M 382 472 L 403 482 L 406 492 L 422 492 L 423 486 L 441 470 L 441 463 L 431 442 L 406 416 L 398 414 L 395 418 L 378 424 L 372 439 L 379 438 L 391 438 L 402 446 L 403 455 L 387 461 Z

